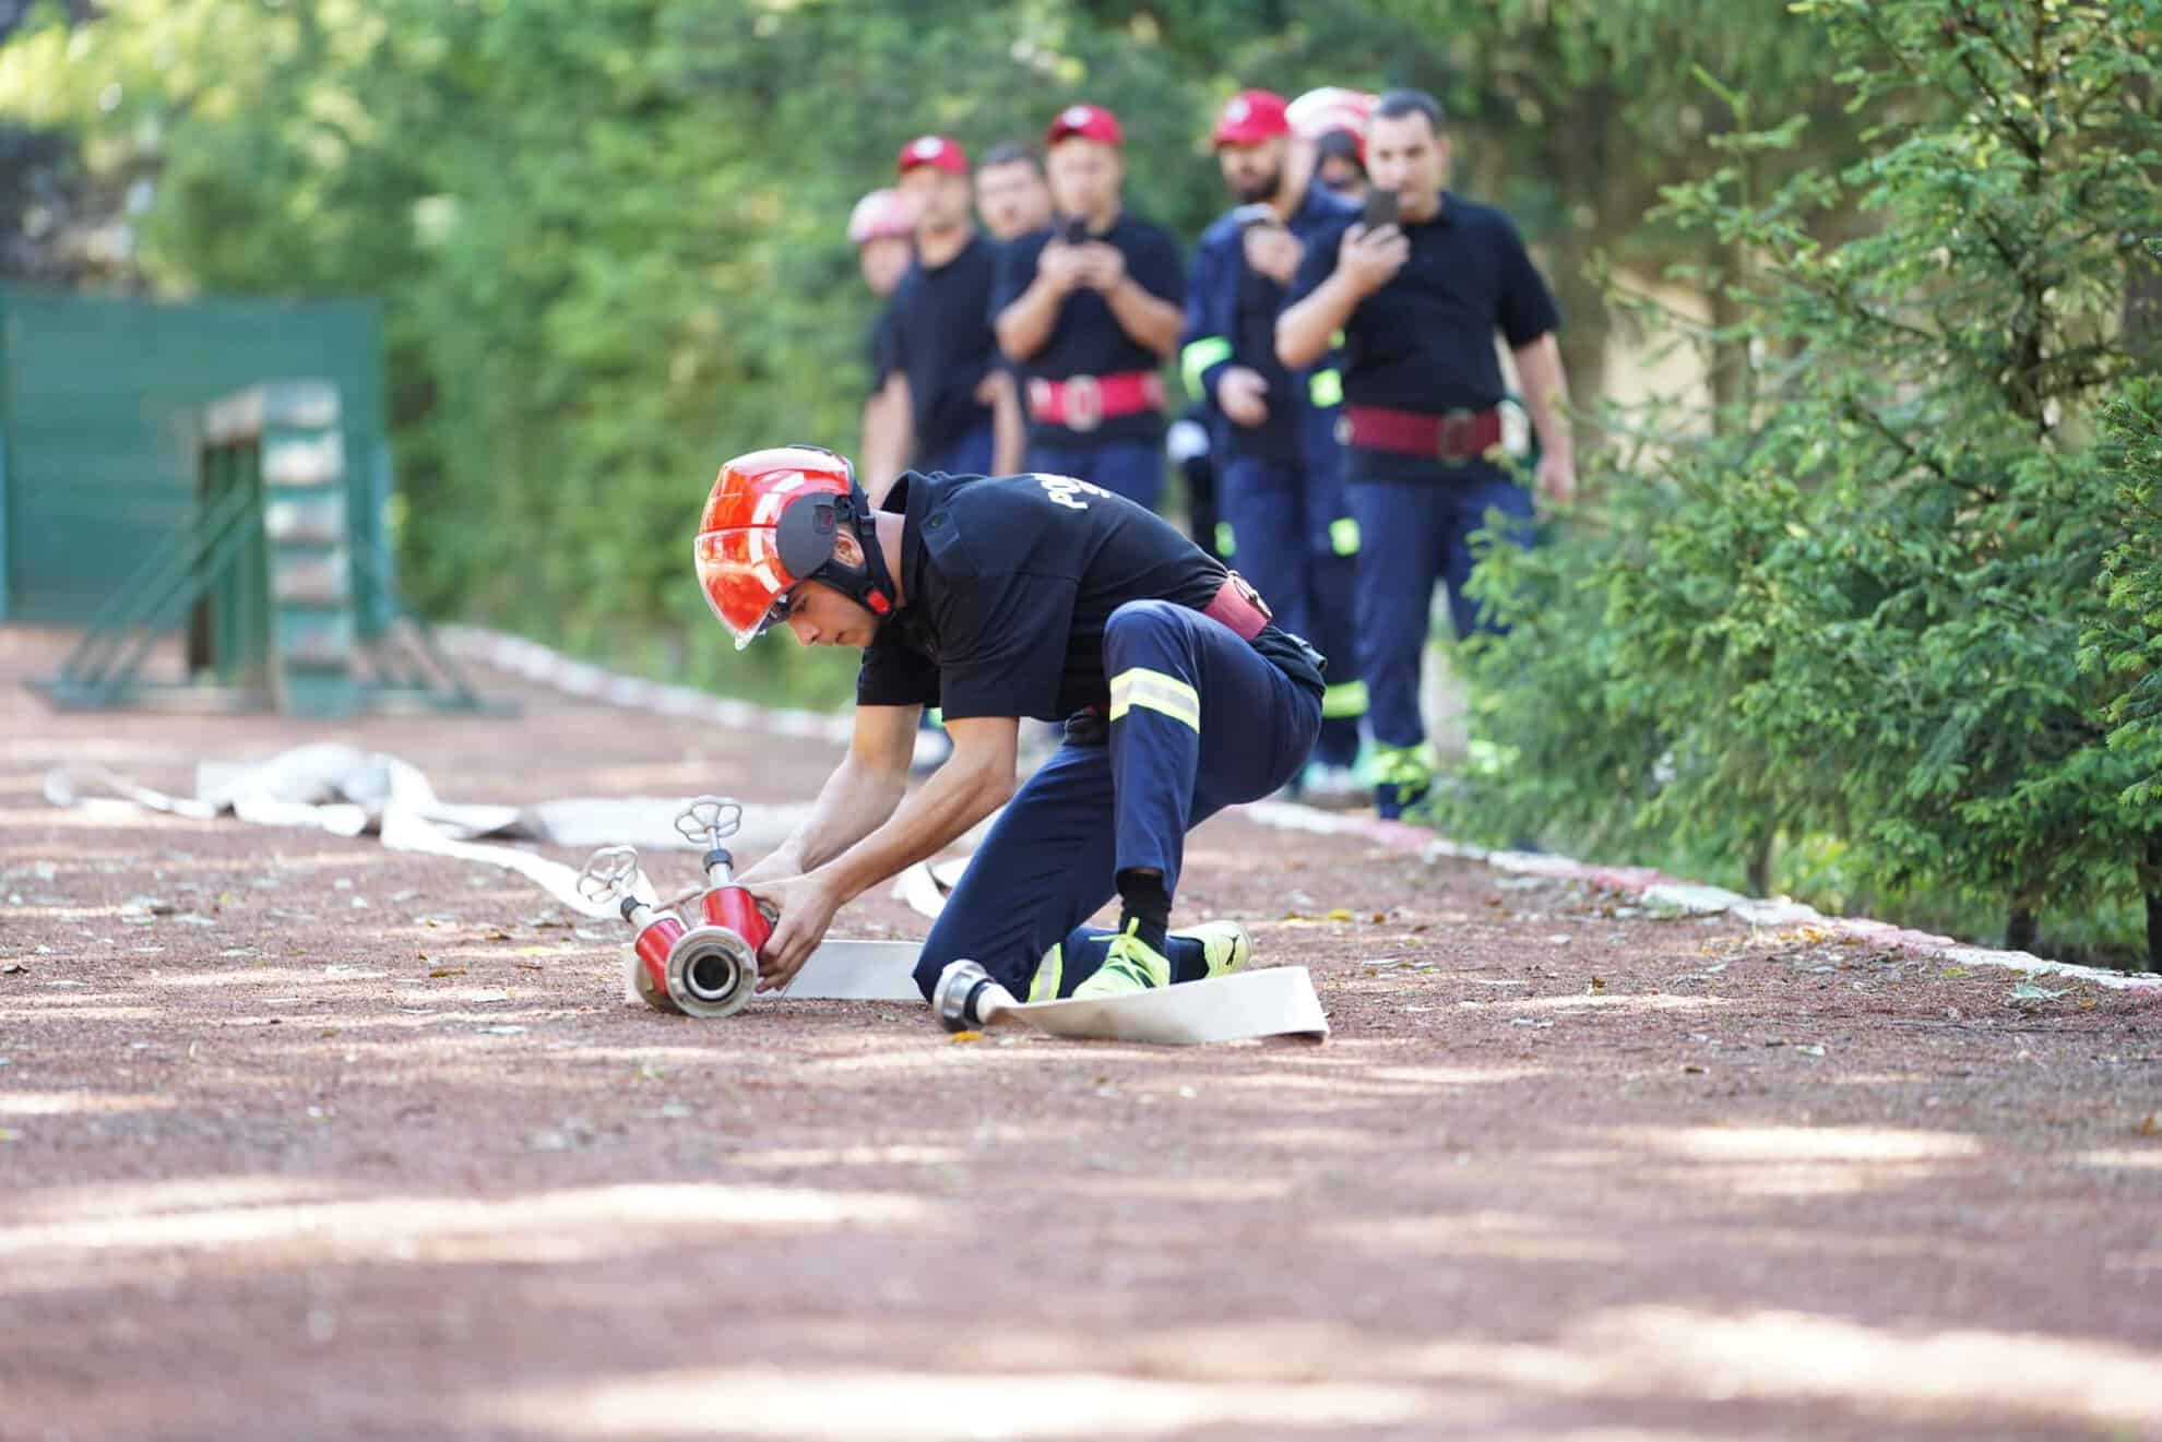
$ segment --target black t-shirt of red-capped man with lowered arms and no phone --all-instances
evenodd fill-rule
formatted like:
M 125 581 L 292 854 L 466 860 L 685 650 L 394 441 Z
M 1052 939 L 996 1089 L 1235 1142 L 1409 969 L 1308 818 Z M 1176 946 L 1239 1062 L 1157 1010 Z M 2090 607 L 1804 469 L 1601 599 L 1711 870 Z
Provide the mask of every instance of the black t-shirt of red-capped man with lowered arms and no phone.
M 977 404 L 975 387 L 999 361 L 999 342 L 990 333 L 997 264 L 997 246 L 971 236 L 936 270 L 917 259 L 893 292 L 889 311 L 899 370 L 908 374 L 915 404 L 917 454 L 943 452 L 990 424 L 990 406 Z

